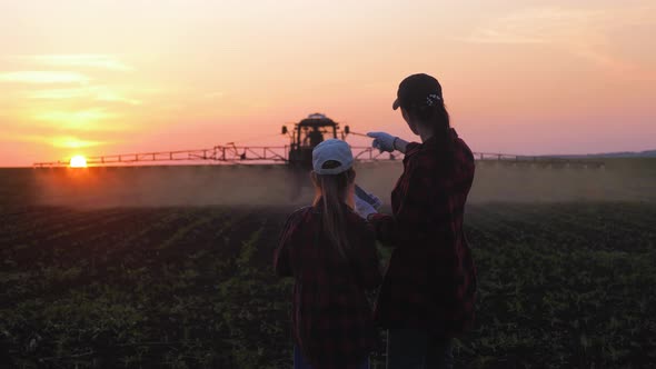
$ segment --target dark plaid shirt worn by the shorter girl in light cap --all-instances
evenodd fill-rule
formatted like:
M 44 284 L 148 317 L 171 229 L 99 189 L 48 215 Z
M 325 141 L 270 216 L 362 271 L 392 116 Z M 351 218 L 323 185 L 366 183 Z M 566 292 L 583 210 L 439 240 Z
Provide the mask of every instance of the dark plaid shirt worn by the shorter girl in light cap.
M 382 279 L 376 238 L 344 205 L 348 260 L 321 232 L 322 203 L 287 219 L 275 252 L 276 273 L 294 277 L 292 335 L 312 368 L 356 368 L 377 343 L 365 290 Z

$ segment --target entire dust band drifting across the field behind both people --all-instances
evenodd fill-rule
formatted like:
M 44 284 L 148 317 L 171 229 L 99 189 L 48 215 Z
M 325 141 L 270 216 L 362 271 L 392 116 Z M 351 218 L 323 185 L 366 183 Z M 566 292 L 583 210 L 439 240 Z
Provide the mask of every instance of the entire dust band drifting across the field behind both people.
M 26 169 L 37 205 L 83 208 L 290 206 L 311 201 L 307 172 L 286 166 Z M 356 166 L 356 181 L 389 205 L 400 162 Z M 656 201 L 656 160 L 613 159 L 603 169 L 478 161 L 469 202 Z

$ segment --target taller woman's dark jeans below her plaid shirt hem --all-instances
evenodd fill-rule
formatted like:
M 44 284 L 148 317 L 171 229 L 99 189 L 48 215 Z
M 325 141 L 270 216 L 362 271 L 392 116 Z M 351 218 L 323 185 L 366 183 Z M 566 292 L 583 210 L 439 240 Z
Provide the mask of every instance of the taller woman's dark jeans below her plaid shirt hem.
M 418 329 L 387 331 L 387 369 L 450 369 L 450 338 L 435 338 Z

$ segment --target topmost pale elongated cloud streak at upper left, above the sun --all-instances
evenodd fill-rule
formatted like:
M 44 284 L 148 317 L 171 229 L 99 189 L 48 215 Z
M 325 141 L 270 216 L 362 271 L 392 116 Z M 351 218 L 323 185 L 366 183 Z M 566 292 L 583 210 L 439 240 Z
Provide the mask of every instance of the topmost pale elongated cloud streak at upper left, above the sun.
M 131 71 L 132 67 L 118 58 L 107 54 L 40 54 L 14 56 L 10 59 L 24 60 L 31 63 L 51 67 L 88 67 L 115 71 Z

